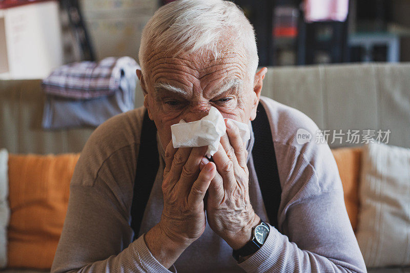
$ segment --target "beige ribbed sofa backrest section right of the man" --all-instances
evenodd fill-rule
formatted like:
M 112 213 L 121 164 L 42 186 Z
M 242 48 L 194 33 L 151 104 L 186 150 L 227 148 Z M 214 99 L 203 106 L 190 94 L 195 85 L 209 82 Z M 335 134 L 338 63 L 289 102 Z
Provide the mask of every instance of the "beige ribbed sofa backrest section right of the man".
M 389 129 L 388 144 L 410 148 L 409 62 L 270 70 L 262 94 L 302 111 L 319 129 Z M 331 148 L 362 145 L 330 142 Z

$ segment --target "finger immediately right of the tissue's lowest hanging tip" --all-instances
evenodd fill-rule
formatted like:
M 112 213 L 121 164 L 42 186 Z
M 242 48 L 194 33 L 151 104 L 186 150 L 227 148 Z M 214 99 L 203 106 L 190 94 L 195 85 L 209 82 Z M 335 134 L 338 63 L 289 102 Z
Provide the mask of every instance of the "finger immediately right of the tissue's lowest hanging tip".
M 216 170 L 223 178 L 223 187 L 232 188 L 236 185 L 236 179 L 234 174 L 234 164 L 229 159 L 227 153 L 219 143 L 218 151 L 212 157 L 214 159 Z

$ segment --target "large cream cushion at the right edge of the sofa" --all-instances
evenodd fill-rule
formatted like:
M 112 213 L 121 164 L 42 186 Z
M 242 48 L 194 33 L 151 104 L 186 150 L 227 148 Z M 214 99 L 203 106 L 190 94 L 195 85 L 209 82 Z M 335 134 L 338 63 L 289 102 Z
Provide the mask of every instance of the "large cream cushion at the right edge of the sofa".
M 357 240 L 367 267 L 410 265 L 410 149 L 363 151 Z

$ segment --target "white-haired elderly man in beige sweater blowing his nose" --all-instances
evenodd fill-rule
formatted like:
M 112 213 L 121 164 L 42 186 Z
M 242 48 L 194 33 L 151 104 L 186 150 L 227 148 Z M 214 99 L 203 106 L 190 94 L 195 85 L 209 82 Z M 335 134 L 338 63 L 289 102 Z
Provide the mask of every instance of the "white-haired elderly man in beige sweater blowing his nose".
M 254 31 L 240 9 L 221 0 L 161 7 L 142 33 L 139 61 L 145 108 L 111 118 L 87 142 L 53 272 L 366 270 L 329 146 L 298 144 L 297 130 L 315 132 L 314 122 L 260 97 L 267 69 L 256 72 Z M 251 126 L 259 103 L 280 178 L 277 219 L 268 219 L 263 203 L 254 134 L 243 143 L 229 120 Z M 199 120 L 211 107 L 229 118 L 212 162 L 206 147 L 175 149 L 171 125 Z M 145 172 L 136 166 L 146 109 L 157 129 L 159 168 L 138 233 L 131 215 L 148 183 L 135 179 Z

